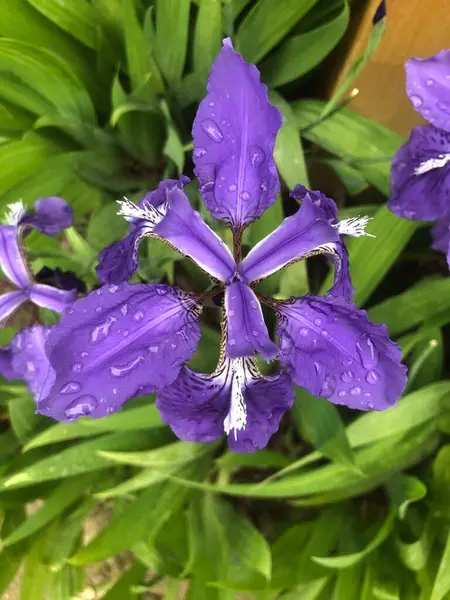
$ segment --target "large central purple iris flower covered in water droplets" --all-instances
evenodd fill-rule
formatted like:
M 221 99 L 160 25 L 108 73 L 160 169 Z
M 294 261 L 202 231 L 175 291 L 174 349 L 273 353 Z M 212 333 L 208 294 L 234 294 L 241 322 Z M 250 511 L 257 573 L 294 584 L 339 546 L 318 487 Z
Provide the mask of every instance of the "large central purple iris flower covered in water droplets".
M 129 399 L 156 392 L 161 416 L 188 441 L 223 433 L 231 448 L 263 448 L 294 400 L 293 381 L 331 402 L 360 410 L 393 406 L 406 383 L 400 349 L 351 299 L 344 236 L 367 235 L 367 218 L 338 222 L 335 203 L 297 186 L 300 208 L 244 259 L 244 227 L 276 201 L 273 149 L 281 115 L 259 73 L 225 40 L 193 126 L 195 172 L 206 207 L 233 232 L 233 252 L 194 211 L 186 179 L 167 180 L 138 205 L 120 202 L 129 235 L 100 254 L 105 284 L 76 301 L 48 336 L 49 383 L 38 411 L 57 420 L 98 418 Z M 138 248 L 153 237 L 190 257 L 214 282 L 200 296 L 164 284 L 130 284 Z M 307 256 L 335 265 L 325 297 L 276 301 L 257 295 L 259 281 Z M 207 297 L 224 293 L 222 344 L 212 374 L 186 363 L 200 339 Z M 279 345 L 260 302 L 275 310 Z M 282 365 L 263 376 L 255 354 Z

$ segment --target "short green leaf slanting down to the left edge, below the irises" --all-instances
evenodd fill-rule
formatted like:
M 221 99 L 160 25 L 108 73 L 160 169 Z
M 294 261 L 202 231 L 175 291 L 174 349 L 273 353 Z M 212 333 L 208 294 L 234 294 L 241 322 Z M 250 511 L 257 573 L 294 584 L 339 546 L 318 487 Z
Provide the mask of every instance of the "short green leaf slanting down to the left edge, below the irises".
M 83 475 L 61 483 L 45 500 L 41 509 L 2 540 L 4 547 L 11 546 L 39 531 L 73 504 L 88 489 L 93 477 Z

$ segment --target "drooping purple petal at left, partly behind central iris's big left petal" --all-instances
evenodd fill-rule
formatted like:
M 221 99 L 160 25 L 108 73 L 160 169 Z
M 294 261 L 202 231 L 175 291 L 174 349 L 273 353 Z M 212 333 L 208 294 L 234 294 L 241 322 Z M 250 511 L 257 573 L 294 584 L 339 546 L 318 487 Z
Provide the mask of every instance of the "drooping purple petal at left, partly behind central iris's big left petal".
M 50 391 L 54 379 L 45 350 L 50 329 L 42 325 L 26 327 L 9 344 L 15 378 L 25 381 L 35 400 Z

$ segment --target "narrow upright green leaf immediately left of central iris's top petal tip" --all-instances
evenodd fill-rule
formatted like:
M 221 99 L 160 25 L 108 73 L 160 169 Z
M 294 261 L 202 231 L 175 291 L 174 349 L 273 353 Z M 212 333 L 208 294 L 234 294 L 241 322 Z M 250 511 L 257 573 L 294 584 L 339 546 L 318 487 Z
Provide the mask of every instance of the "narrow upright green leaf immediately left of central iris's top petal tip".
M 194 36 L 194 71 L 206 76 L 220 50 L 222 4 L 220 0 L 201 2 Z

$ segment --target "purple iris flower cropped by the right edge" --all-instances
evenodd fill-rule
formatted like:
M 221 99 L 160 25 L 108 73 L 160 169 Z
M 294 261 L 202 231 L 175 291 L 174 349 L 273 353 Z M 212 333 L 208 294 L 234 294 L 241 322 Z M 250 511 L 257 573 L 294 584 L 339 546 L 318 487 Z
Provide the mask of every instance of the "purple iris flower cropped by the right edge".
M 433 248 L 450 265 L 450 50 L 406 63 L 406 91 L 430 125 L 418 125 L 392 161 L 392 197 L 396 215 L 437 221 Z

